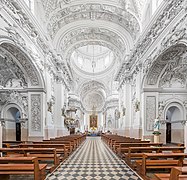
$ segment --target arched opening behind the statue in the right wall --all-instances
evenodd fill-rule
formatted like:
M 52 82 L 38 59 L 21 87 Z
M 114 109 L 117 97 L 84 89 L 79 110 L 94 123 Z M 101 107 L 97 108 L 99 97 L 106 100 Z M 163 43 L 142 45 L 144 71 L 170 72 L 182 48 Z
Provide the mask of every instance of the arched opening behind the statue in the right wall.
M 166 113 L 166 143 L 181 143 L 184 130 L 181 124 L 182 114 L 178 107 L 171 106 Z

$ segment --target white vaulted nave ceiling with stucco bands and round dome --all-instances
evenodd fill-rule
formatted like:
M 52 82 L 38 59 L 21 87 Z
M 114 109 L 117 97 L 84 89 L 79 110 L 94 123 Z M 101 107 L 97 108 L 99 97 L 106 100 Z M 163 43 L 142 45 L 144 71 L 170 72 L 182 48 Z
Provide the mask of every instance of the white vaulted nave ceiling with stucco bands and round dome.
M 142 0 L 41 2 L 46 31 L 57 53 L 72 71 L 74 91 L 84 97 L 85 106 L 91 107 L 86 96 L 96 103 L 96 99 L 104 99 L 104 94 L 111 94 L 117 69 L 140 35 Z M 98 87 L 100 90 L 89 89 L 84 95 L 80 94 L 93 82 L 102 84 Z M 96 105 L 98 110 L 101 104 Z

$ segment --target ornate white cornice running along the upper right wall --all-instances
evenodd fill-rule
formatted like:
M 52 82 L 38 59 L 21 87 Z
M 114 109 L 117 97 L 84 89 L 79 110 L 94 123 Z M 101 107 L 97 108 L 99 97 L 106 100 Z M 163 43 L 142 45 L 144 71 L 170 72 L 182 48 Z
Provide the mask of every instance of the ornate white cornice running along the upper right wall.
M 146 33 L 138 40 L 134 50 L 130 54 L 127 63 L 120 68 L 116 80 L 120 81 L 125 69 L 131 69 L 141 60 L 144 53 L 151 47 L 151 44 L 161 35 L 163 30 L 183 10 L 184 0 L 169 0 L 163 11 L 155 18 L 155 22 L 149 27 Z M 121 81 L 122 82 L 122 81 Z

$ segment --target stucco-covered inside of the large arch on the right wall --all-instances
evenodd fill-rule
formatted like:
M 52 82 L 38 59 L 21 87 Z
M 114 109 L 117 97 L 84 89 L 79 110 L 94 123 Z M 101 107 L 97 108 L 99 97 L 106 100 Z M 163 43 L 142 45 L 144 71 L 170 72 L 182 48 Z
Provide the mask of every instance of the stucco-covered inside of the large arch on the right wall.
M 165 49 L 153 62 L 144 78 L 145 86 L 163 87 L 166 83 L 171 83 L 172 78 L 181 77 L 181 83 L 186 78 L 181 74 L 183 55 L 187 52 L 184 44 L 175 44 Z M 176 71 L 178 74 L 176 74 Z M 184 76 L 185 75 L 185 76 Z

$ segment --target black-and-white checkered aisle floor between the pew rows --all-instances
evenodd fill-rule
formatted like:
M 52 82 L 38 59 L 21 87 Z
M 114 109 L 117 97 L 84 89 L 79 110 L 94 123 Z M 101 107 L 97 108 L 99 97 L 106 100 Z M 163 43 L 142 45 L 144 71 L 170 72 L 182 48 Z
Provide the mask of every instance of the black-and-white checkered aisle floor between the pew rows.
M 87 137 L 47 180 L 140 180 L 100 137 Z

